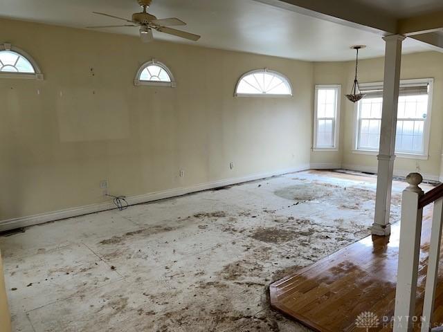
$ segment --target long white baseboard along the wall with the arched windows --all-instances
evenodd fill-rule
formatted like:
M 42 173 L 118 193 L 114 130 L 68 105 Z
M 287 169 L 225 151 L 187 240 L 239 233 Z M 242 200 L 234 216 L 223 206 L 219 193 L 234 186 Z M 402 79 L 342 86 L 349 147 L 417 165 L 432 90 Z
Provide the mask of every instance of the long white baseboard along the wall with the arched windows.
M 253 174 L 249 176 L 242 176 L 239 178 L 228 178 L 225 180 L 200 183 L 198 185 L 192 185 L 190 187 L 174 188 L 170 190 L 163 190 L 160 192 L 150 192 L 148 194 L 143 194 L 138 196 L 129 196 L 126 198 L 126 201 L 129 203 L 129 205 L 147 203 L 147 202 L 157 201 L 159 199 L 169 199 L 175 196 L 190 194 L 191 192 L 200 192 L 202 190 L 214 189 L 217 187 L 223 187 L 225 185 L 235 185 L 237 183 L 244 183 L 248 181 L 259 180 L 260 178 L 269 178 L 271 176 L 300 172 L 300 171 L 305 171 L 307 169 L 309 169 L 309 165 L 301 165 L 300 167 L 280 169 L 274 172 Z M 47 223 L 48 221 L 71 218 L 73 216 L 82 216 L 84 214 L 111 210 L 114 208 L 116 208 L 116 206 L 112 202 L 97 203 L 91 205 L 84 205 L 77 208 L 69 208 L 66 210 L 59 210 L 59 211 L 42 213 L 42 214 L 34 214 L 33 216 L 23 216 L 19 218 L 7 219 L 4 221 L 0 221 L 0 232 L 3 232 L 5 230 L 12 230 L 14 228 L 37 225 L 39 223 Z

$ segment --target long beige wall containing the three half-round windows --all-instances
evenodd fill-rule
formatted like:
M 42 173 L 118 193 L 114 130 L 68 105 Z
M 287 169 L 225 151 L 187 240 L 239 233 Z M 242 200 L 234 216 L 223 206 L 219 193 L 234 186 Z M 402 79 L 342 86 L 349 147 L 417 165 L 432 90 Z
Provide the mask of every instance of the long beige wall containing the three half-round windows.
M 0 24 L 0 42 L 26 50 L 44 73 L 0 79 L 0 220 L 106 201 L 103 179 L 109 192 L 134 196 L 309 164 L 309 62 Z M 177 88 L 134 86 L 152 57 Z M 264 67 L 289 77 L 293 98 L 234 98 L 239 76 Z

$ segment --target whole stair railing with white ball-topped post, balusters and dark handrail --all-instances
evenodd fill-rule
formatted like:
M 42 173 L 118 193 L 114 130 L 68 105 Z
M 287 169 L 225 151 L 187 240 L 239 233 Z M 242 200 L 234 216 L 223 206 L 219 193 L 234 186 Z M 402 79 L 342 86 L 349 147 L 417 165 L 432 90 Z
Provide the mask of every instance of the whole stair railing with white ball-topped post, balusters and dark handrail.
M 433 326 L 435 289 L 437 286 L 440 241 L 443 223 L 443 184 L 424 194 L 419 187 L 423 178 L 418 173 L 406 177 L 409 186 L 401 199 L 401 224 L 397 289 L 395 292 L 394 332 L 409 332 L 421 326 L 421 332 L 429 332 Z M 422 316 L 415 315 L 417 302 L 417 278 L 419 268 L 420 239 L 422 235 L 423 208 L 434 203 L 431 225 L 431 242 L 424 293 Z M 419 324 L 419 325 L 416 325 Z

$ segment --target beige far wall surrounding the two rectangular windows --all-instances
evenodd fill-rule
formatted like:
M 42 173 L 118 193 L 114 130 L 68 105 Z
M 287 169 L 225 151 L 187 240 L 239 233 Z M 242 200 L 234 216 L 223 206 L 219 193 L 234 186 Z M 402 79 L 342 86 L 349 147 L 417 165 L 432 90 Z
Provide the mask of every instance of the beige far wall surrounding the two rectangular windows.
M 314 65 L 314 84 L 342 84 L 342 93 L 349 93 L 354 79 L 354 62 L 318 63 Z M 443 142 L 443 54 L 437 52 L 403 55 L 401 79 L 434 78 L 433 109 L 431 116 L 431 139 L 428 160 L 397 157 L 395 172 L 404 174 L 416 170 L 427 178 L 440 176 L 440 161 Z M 382 82 L 383 58 L 361 60 L 359 62 L 359 82 Z M 311 163 L 332 163 L 341 158 L 343 167 L 351 169 L 376 169 L 377 157 L 352 152 L 354 135 L 354 104 L 342 98 L 341 103 L 341 142 L 338 153 L 312 152 Z

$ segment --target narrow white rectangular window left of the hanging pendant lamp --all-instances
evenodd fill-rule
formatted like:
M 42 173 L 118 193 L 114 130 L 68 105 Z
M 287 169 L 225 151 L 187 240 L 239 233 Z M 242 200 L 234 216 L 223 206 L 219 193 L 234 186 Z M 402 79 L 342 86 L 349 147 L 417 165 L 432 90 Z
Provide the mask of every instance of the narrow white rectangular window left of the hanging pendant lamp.
M 314 102 L 314 151 L 338 149 L 340 85 L 316 85 Z

